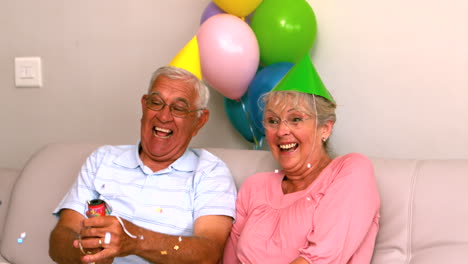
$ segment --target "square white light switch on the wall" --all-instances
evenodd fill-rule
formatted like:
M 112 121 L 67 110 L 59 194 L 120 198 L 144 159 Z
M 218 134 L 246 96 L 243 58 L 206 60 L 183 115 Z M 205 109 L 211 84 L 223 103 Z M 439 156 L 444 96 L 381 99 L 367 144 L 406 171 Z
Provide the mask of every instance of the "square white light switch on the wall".
M 42 62 L 40 57 L 15 58 L 16 87 L 42 87 Z

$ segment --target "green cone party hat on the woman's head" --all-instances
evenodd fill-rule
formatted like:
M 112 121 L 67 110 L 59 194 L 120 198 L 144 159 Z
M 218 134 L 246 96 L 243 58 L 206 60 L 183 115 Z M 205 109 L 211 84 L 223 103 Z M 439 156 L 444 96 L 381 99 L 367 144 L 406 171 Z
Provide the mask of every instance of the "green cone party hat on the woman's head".
M 334 101 L 315 70 L 309 54 L 296 63 L 272 91 L 297 91 L 319 95 Z

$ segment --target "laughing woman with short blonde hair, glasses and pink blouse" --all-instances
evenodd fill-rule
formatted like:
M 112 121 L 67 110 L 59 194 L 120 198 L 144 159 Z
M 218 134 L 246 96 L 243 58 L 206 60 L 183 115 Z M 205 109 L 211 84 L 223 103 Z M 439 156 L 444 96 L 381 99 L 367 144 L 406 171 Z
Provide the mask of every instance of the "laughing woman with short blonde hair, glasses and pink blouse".
M 370 263 L 380 199 L 365 156 L 327 153 L 336 104 L 284 90 L 264 101 L 265 135 L 282 170 L 243 183 L 223 263 Z

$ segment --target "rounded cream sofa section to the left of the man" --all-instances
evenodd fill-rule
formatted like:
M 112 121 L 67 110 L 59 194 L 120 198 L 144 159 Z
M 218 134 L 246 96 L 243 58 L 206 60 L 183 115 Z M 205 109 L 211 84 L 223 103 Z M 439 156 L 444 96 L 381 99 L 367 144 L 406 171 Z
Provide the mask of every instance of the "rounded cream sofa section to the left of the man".
M 11 193 L 1 256 L 11 263 L 53 263 L 48 254 L 52 211 L 68 191 L 86 157 L 98 144 L 56 143 L 38 150 L 24 166 Z M 20 234 L 27 237 L 17 243 Z

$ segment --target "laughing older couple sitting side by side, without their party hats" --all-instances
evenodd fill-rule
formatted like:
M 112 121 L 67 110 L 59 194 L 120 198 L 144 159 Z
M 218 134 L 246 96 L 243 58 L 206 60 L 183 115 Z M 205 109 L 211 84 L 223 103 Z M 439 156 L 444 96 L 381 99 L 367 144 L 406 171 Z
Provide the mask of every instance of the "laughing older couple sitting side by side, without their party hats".
M 307 86 L 307 84 L 305 85 Z M 336 104 L 314 87 L 263 97 L 281 170 L 252 175 L 237 195 L 229 168 L 188 145 L 208 121 L 208 87 L 158 69 L 141 98 L 136 145 L 103 146 L 54 211 L 57 263 L 370 263 L 380 200 L 370 161 L 332 158 Z M 110 215 L 91 217 L 101 199 Z

